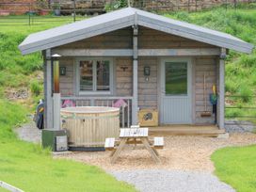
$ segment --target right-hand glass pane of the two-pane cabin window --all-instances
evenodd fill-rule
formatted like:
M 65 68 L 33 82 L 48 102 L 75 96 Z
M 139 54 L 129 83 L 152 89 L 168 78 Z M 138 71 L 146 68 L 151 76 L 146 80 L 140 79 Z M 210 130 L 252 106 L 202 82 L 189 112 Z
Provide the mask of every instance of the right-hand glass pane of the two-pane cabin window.
M 109 61 L 97 61 L 97 90 L 109 90 Z

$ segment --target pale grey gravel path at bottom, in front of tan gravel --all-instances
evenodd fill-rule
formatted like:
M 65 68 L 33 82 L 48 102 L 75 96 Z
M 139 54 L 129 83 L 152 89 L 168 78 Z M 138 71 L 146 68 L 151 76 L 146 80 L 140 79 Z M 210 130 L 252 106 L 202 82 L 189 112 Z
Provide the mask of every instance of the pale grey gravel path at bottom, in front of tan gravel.
M 110 172 L 118 180 L 134 184 L 141 192 L 233 192 L 228 184 L 220 182 L 208 172 L 181 170 L 133 170 Z

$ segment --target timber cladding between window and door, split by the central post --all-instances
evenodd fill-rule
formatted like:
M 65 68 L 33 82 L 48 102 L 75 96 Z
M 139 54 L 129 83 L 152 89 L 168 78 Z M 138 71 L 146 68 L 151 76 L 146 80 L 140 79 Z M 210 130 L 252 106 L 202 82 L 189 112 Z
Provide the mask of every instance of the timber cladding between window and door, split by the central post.
M 140 57 L 138 59 L 138 107 L 157 108 L 157 57 Z M 144 67 L 151 68 L 149 80 L 144 76 Z M 116 58 L 116 94 L 132 96 L 133 61 L 129 57 Z

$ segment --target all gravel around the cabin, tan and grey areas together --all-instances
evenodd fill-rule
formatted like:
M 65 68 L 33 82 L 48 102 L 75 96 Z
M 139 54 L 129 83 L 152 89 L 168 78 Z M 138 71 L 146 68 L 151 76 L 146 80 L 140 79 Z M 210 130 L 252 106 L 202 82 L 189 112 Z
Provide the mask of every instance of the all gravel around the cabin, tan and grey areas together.
M 40 130 L 34 122 L 15 130 L 21 139 L 40 142 Z M 232 187 L 212 174 L 210 156 L 219 148 L 256 144 L 249 128 L 228 127 L 229 138 L 201 136 L 166 136 L 165 148 L 158 150 L 161 164 L 156 165 L 140 146 L 126 146 L 116 164 L 110 164 L 110 152 L 72 152 L 55 158 L 69 158 L 104 168 L 118 180 L 134 184 L 139 191 L 232 192 Z M 235 133 L 233 133 L 235 132 Z M 238 132 L 238 133 L 237 133 Z

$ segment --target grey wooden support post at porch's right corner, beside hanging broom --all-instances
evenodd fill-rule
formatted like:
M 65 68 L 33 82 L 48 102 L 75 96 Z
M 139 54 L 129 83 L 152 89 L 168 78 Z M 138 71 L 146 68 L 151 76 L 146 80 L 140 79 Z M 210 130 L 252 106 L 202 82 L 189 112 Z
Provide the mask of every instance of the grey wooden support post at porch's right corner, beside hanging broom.
M 221 49 L 219 59 L 219 81 L 218 81 L 218 127 L 224 129 L 225 126 L 225 59 L 226 49 Z

